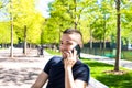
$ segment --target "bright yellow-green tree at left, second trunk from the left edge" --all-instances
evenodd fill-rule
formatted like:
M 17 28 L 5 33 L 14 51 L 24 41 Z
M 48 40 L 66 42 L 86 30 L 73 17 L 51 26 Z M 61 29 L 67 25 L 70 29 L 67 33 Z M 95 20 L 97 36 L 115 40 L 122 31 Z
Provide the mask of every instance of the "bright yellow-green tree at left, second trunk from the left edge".
M 13 19 L 14 28 L 19 34 L 20 42 L 24 43 L 23 54 L 26 55 L 26 43 L 40 43 L 41 29 L 44 22 L 42 14 L 35 10 L 34 0 L 13 0 Z M 11 9 L 9 9 L 11 11 Z M 34 33 L 38 33 L 38 37 L 32 38 Z M 37 34 L 36 34 L 37 35 Z M 30 36 L 30 37 L 29 37 Z M 34 41 L 33 41 L 34 40 Z M 37 41 L 36 41 L 37 40 Z

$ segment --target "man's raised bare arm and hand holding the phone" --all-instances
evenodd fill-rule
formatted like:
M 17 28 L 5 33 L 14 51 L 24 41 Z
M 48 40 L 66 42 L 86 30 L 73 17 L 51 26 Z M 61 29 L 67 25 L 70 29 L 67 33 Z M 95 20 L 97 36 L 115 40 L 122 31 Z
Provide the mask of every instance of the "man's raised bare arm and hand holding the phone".
M 77 62 L 77 51 L 74 51 L 74 54 L 72 52 L 66 53 L 67 58 L 64 59 L 64 68 L 65 68 L 65 88 L 86 88 L 87 82 L 79 79 L 74 79 L 73 76 L 73 66 Z

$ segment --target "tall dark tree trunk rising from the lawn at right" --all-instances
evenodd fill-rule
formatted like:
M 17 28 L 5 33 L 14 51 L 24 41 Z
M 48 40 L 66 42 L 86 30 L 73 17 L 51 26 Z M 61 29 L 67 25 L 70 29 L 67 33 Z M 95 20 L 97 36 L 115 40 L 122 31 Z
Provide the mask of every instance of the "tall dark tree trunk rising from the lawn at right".
M 114 70 L 119 70 L 119 61 L 121 58 L 121 29 L 120 29 L 120 0 L 117 0 L 117 57 Z

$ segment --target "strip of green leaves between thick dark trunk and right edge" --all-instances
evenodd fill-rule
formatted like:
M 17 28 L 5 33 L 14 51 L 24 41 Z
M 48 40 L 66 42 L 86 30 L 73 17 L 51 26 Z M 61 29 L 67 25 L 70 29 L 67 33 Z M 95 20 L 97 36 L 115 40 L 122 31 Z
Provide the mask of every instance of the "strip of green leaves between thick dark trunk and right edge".
M 128 42 L 132 42 L 132 1 L 124 1 L 123 2 L 124 6 L 122 8 L 121 11 L 121 21 L 122 21 L 122 37 L 123 37 L 123 42 L 125 42 L 125 44 L 128 44 Z

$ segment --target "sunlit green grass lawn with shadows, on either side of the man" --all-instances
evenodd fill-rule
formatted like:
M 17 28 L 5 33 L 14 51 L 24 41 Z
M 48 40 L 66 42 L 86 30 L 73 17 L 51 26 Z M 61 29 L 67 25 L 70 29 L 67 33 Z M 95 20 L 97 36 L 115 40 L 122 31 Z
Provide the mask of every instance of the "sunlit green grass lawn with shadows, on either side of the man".
M 54 55 L 61 55 L 61 53 L 56 53 L 54 51 L 47 51 Z M 106 74 L 106 70 L 113 70 L 113 65 L 99 63 L 94 59 L 81 58 L 84 63 L 86 63 L 90 67 L 90 75 L 96 78 L 97 80 L 103 82 L 109 88 L 131 88 L 132 87 L 132 70 L 120 68 L 120 70 L 128 72 L 123 75 L 113 75 L 113 74 Z

